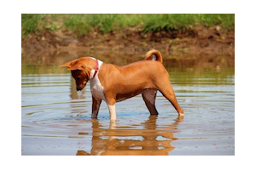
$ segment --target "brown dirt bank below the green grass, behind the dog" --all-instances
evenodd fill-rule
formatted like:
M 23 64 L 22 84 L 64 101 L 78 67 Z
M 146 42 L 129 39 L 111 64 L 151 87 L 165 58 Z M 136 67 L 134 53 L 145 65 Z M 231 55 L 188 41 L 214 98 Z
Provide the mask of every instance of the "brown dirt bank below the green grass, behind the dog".
M 77 37 L 65 30 L 45 30 L 40 35 L 22 37 L 21 42 L 22 59 L 65 53 L 72 56 L 107 57 L 108 62 L 113 63 L 119 63 L 117 58 L 132 62 L 155 48 L 160 50 L 165 60 L 171 60 L 172 65 L 181 60 L 195 62 L 195 59 L 235 65 L 235 31 L 227 31 L 220 26 L 195 26 L 181 31 L 147 34 L 137 27 L 128 27 L 108 34 L 94 31 L 84 37 Z

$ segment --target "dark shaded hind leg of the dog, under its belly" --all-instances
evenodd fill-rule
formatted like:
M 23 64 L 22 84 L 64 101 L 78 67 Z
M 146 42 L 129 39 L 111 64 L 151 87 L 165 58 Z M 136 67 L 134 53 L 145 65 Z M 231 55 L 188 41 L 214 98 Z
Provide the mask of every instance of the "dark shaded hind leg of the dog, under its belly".
M 145 101 L 145 104 L 148 107 L 148 111 L 150 112 L 150 115 L 158 115 L 158 112 L 155 109 L 155 97 L 157 94 L 157 89 L 154 88 L 147 88 L 143 92 L 143 100 Z

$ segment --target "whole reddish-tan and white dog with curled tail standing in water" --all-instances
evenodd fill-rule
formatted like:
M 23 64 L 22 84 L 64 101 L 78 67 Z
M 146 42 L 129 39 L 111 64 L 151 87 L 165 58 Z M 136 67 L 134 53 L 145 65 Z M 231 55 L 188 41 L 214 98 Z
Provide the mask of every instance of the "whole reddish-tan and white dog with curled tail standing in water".
M 150 114 L 157 115 L 154 105 L 157 90 L 172 103 L 178 114 L 183 116 L 183 109 L 177 103 L 169 74 L 162 63 L 160 52 L 153 49 L 148 51 L 145 60 L 131 65 L 117 66 L 91 57 L 82 57 L 61 67 L 67 67 L 71 71 L 77 90 L 82 90 L 90 81 L 92 118 L 97 117 L 103 99 L 108 105 L 110 119 L 116 120 L 115 103 L 137 94 L 143 94 Z

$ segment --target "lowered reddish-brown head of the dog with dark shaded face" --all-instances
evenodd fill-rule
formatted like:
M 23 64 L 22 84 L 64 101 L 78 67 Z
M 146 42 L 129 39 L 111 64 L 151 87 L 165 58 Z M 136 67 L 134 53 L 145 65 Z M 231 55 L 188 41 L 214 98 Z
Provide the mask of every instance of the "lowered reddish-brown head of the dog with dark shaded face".
M 90 71 L 93 70 L 95 65 L 94 59 L 90 57 L 82 57 L 68 61 L 60 65 L 60 67 L 67 67 L 71 71 L 72 77 L 76 81 L 77 90 L 82 90 L 86 83 L 90 80 Z

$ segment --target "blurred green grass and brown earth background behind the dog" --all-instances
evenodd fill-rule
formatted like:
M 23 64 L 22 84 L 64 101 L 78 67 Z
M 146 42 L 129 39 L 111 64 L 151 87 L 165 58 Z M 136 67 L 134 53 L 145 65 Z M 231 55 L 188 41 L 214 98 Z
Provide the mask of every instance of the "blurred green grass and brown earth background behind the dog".
M 219 70 L 235 65 L 235 14 L 21 14 L 21 41 L 22 74 L 81 56 L 126 65 L 152 48 L 167 67 Z

